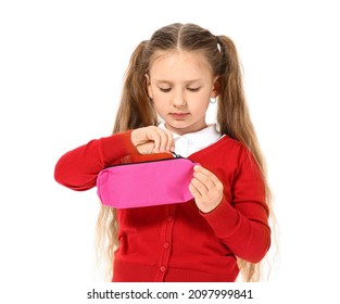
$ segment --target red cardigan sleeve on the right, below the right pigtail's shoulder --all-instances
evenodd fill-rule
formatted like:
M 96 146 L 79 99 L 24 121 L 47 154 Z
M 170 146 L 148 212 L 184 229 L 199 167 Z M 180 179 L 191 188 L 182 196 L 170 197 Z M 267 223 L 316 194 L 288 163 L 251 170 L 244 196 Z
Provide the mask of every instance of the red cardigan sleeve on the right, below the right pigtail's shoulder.
M 241 147 L 238 169 L 231 185 L 212 212 L 202 214 L 216 237 L 238 257 L 259 263 L 270 246 L 265 186 L 251 153 Z

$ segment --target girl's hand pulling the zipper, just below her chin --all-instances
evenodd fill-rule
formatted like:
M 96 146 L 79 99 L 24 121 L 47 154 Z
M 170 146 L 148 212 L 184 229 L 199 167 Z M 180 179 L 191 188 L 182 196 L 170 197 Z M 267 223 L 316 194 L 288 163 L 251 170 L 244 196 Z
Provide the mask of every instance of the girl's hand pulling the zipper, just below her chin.
M 172 132 L 155 126 L 133 130 L 131 141 L 140 154 L 173 152 L 175 150 Z

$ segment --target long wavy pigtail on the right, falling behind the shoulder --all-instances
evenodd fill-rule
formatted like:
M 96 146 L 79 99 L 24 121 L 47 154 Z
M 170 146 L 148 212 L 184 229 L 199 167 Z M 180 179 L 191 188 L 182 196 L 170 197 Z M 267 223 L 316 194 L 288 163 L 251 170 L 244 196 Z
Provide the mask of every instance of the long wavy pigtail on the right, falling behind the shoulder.
M 272 206 L 272 193 L 267 183 L 265 161 L 260 149 L 254 126 L 251 122 L 242 80 L 242 69 L 234 42 L 226 36 L 217 36 L 221 52 L 221 91 L 218 96 L 217 124 L 222 134 L 227 134 L 242 142 L 252 153 L 263 176 L 266 191 L 266 203 L 275 226 Z M 244 281 L 259 281 L 262 263 L 252 264 L 238 259 L 238 265 Z

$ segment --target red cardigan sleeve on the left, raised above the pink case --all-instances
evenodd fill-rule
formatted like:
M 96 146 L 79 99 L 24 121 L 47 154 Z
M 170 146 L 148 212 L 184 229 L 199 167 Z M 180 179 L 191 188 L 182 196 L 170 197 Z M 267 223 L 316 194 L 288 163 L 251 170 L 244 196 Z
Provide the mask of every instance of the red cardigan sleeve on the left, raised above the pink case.
M 54 168 L 54 179 L 73 190 L 84 191 L 96 186 L 100 170 L 117 163 L 137 149 L 130 131 L 89 141 L 60 157 Z

